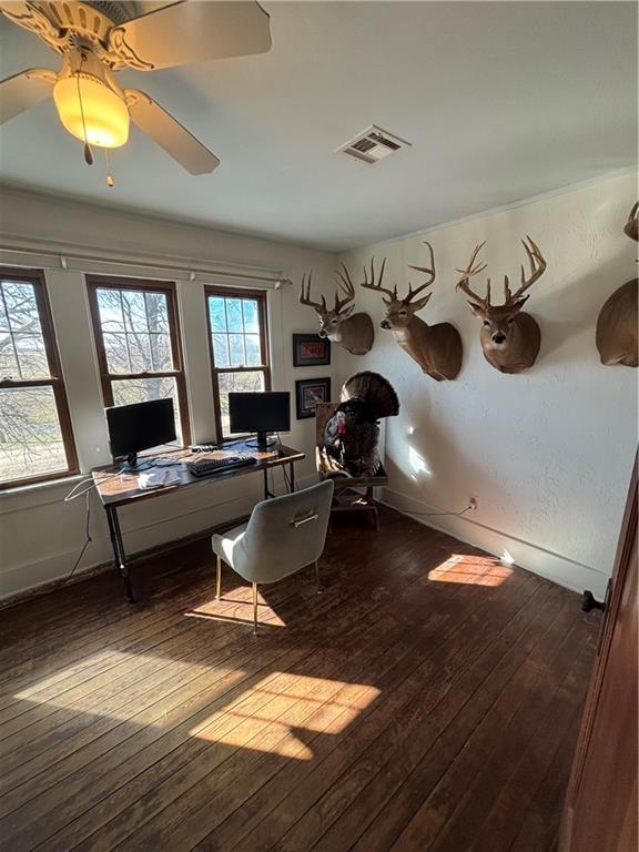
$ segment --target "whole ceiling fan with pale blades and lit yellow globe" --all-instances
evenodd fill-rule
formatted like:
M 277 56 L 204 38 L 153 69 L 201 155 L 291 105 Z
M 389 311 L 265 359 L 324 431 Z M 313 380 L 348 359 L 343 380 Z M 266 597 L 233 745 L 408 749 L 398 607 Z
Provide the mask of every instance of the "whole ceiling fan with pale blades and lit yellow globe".
M 0 82 L 0 124 L 53 95 L 64 128 L 91 146 L 119 148 L 133 121 L 191 174 L 220 160 L 152 98 L 121 89 L 114 72 L 263 53 L 271 49 L 268 14 L 256 2 L 181 0 L 136 16 L 134 2 L 0 0 L 0 11 L 62 55 L 62 68 L 30 68 Z M 112 185 L 112 180 L 108 178 Z

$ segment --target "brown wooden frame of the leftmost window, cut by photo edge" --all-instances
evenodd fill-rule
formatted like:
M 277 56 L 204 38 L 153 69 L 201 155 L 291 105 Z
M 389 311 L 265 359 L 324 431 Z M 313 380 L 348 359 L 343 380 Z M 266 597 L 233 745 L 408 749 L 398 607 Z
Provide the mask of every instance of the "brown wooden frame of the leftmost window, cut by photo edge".
M 49 474 L 23 476 L 20 479 L 0 479 L 0 490 L 7 490 L 9 488 L 19 488 L 23 485 L 36 485 L 37 483 L 45 483 L 51 479 L 62 479 L 67 476 L 74 476 L 80 473 L 80 468 L 44 272 L 43 270 L 0 266 L 0 280 L 23 281 L 33 286 L 38 317 L 42 331 L 42 341 L 44 343 L 44 353 L 47 355 L 47 364 L 49 365 L 49 376 L 47 378 L 8 379 L 0 376 L 0 388 L 51 387 L 53 390 L 53 399 L 55 402 L 58 422 L 60 423 L 62 446 L 67 458 L 67 468 L 64 470 L 53 470 Z

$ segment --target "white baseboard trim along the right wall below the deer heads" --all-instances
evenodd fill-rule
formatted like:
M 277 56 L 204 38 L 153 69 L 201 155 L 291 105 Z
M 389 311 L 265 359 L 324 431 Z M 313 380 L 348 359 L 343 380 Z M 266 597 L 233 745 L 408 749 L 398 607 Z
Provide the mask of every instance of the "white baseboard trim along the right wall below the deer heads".
M 501 530 L 488 527 L 468 516 L 430 518 L 412 514 L 410 508 L 413 508 L 414 513 L 417 513 L 417 507 L 419 507 L 420 511 L 433 513 L 440 513 L 443 509 L 429 506 L 414 497 L 408 497 L 408 495 L 396 491 L 393 488 L 386 487 L 382 489 L 378 500 L 385 506 L 412 517 L 414 520 L 419 521 L 419 524 L 424 524 L 424 526 L 447 532 L 460 541 L 480 547 L 494 556 L 501 558 L 504 551 L 507 550 L 514 557 L 517 566 L 532 571 L 551 582 L 556 582 L 558 586 L 564 586 L 579 594 L 584 589 L 590 589 L 595 597 L 600 599 L 606 595 L 608 575 L 597 568 L 592 568 L 592 566 L 578 562 L 570 557 L 556 554 L 530 541 L 525 541 Z

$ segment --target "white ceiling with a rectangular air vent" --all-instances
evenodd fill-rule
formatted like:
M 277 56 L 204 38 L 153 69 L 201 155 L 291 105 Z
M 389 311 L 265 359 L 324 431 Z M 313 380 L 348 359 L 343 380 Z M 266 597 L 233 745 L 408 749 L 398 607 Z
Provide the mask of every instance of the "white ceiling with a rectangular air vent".
M 121 75 L 220 156 L 213 174 L 132 129 L 110 190 L 47 102 L 0 131 L 3 181 L 339 251 L 635 162 L 633 2 L 264 6 L 270 53 Z M 4 19 L 0 37 L 3 77 L 58 68 Z M 413 146 L 372 168 L 333 153 L 373 123 Z

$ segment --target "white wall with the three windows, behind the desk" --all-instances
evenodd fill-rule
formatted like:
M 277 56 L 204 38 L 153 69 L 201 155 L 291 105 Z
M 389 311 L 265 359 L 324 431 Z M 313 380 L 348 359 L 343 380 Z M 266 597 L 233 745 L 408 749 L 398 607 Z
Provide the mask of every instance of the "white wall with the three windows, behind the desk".
M 191 263 L 229 268 L 235 274 L 262 272 L 291 278 L 295 284 L 302 272 L 312 267 L 321 285 L 327 281 L 335 263 L 332 255 L 321 252 L 9 191 L 2 193 L 0 230 L 0 242 L 4 246 L 45 246 L 51 252 L 44 262 L 36 254 L 2 252 L 0 262 L 45 268 L 71 418 L 84 471 L 109 463 L 110 458 L 82 270 L 141 277 L 162 275 L 134 265 L 110 268 L 89 262 L 74 264 L 81 268 L 63 270 L 55 256 L 57 248 L 113 260 L 134 255 L 138 263 L 144 258 L 170 262 L 176 257 L 182 258 L 175 260 L 180 267 Z M 229 283 L 226 278 L 216 282 L 206 275 L 178 283 L 192 437 L 196 442 L 211 439 L 215 434 L 204 312 L 206 281 Z M 302 481 L 310 480 L 315 473 L 314 420 L 296 420 L 294 382 L 323 375 L 337 381 L 335 361 L 332 367 L 293 368 L 292 333 L 317 327 L 313 312 L 297 303 L 296 286 L 284 285 L 268 291 L 268 308 L 273 388 L 292 392 L 292 430 L 285 440 L 307 454 L 306 460 L 297 466 L 297 475 Z M 276 483 L 282 490 L 281 473 L 276 474 Z M 223 485 L 209 481 L 181 494 L 126 508 L 121 511 L 121 524 L 128 550 L 134 552 L 246 514 L 260 498 L 261 486 L 262 479 L 257 476 L 239 477 Z M 73 565 L 84 540 L 84 501 L 64 504 L 62 498 L 69 488 L 67 481 L 0 493 L 1 596 L 63 577 Z M 111 557 L 104 514 L 95 499 L 91 505 L 93 544 L 82 560 L 83 568 Z

